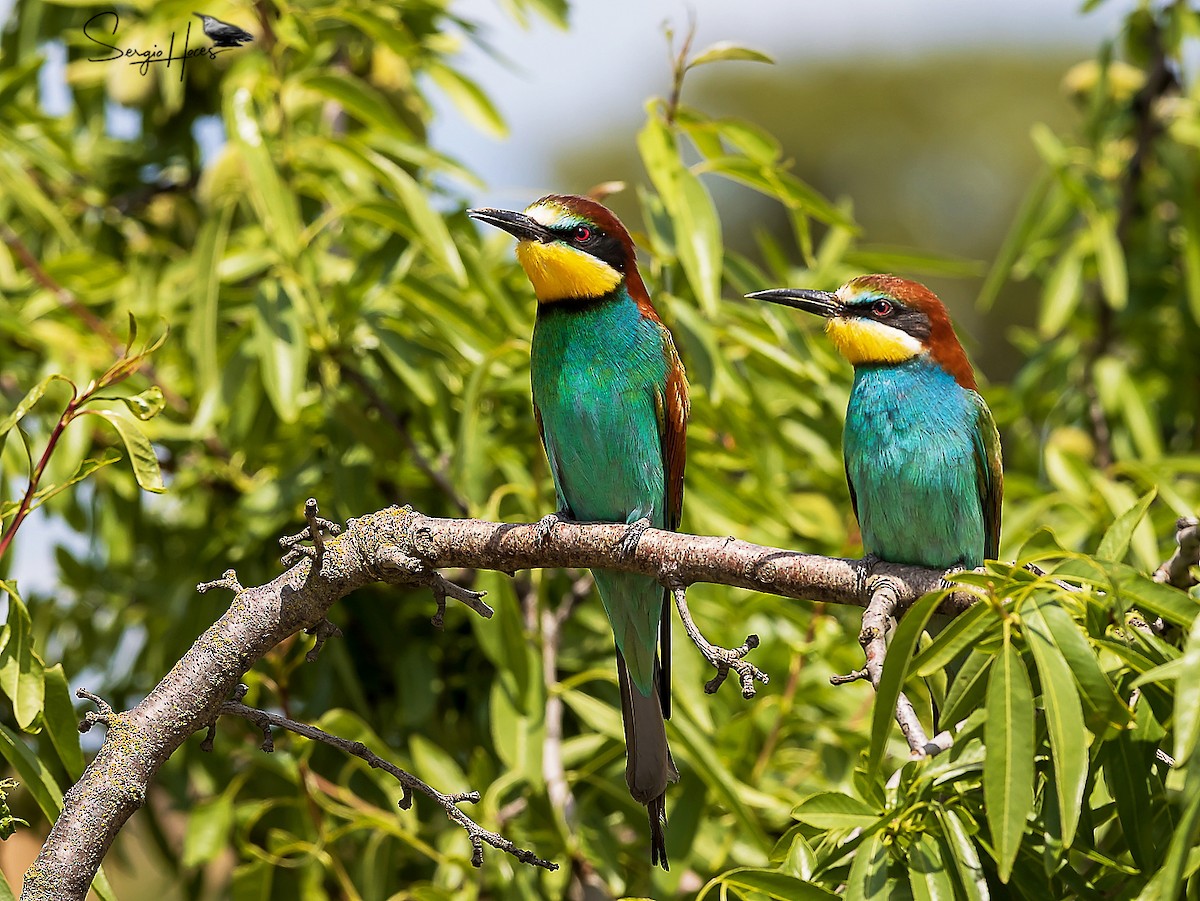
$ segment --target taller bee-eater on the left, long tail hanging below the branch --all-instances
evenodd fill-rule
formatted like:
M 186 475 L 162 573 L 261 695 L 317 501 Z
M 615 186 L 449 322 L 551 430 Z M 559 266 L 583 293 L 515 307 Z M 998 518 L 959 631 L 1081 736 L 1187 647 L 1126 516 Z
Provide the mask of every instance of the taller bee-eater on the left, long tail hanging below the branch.
M 626 523 L 626 552 L 648 527 L 678 528 L 688 382 L 637 271 L 629 232 L 606 208 L 576 196 L 550 194 L 524 212 L 468 215 L 517 239 L 517 259 L 538 299 L 533 408 L 559 507 L 544 522 Z M 648 807 L 652 864 L 666 870 L 664 798 L 667 782 L 679 779 L 664 723 L 671 715 L 671 609 L 650 577 L 593 575 L 617 641 L 625 781 Z

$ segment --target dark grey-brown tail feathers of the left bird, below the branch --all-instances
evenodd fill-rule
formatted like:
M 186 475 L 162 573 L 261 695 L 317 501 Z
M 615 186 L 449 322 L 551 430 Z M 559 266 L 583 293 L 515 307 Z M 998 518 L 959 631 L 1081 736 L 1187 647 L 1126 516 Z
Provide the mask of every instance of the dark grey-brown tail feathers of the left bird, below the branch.
M 679 770 L 667 746 L 667 729 L 659 698 L 660 671 L 655 662 L 654 689 L 643 695 L 629 678 L 625 657 L 617 651 L 620 683 L 620 719 L 625 726 L 625 782 L 634 800 L 650 817 L 650 864 L 670 870 L 666 843 L 666 788 L 679 781 Z

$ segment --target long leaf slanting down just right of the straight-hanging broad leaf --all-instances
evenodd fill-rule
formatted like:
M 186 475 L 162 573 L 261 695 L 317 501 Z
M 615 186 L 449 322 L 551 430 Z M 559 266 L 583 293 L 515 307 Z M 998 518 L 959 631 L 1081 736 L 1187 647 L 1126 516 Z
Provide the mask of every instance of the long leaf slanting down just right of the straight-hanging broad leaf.
M 1069 848 L 1075 839 L 1079 813 L 1084 806 L 1084 788 L 1087 785 L 1084 713 L 1070 667 L 1055 647 L 1040 609 L 1028 605 L 1022 623 L 1026 641 L 1033 651 L 1033 662 L 1042 677 L 1042 702 L 1045 707 L 1046 731 L 1054 758 L 1062 843 L 1064 848 Z

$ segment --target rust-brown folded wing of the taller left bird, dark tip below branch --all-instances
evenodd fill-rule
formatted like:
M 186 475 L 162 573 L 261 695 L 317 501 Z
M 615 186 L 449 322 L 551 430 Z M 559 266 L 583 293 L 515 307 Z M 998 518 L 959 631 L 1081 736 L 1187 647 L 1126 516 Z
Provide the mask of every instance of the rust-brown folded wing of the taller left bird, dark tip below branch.
M 678 529 L 683 516 L 683 470 L 688 455 L 688 377 L 674 349 L 671 332 L 658 324 L 662 337 L 662 353 L 667 358 L 667 378 L 655 388 L 654 412 L 659 422 L 659 444 L 662 448 L 664 525 Z M 671 596 L 662 595 L 662 615 L 659 619 L 659 702 L 662 719 L 671 719 Z

